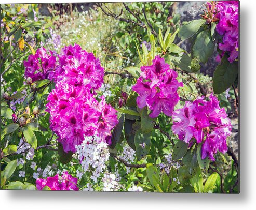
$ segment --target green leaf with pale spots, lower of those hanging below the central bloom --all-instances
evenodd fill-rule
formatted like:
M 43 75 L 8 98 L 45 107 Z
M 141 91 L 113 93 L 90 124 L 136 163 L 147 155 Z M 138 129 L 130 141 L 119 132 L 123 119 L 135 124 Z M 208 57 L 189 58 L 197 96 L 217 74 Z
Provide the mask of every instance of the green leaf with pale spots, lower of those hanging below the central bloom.
M 152 133 L 144 133 L 141 129 L 136 131 L 134 137 L 134 143 L 136 147 L 136 156 L 140 160 L 142 157 L 150 152 L 150 142 Z

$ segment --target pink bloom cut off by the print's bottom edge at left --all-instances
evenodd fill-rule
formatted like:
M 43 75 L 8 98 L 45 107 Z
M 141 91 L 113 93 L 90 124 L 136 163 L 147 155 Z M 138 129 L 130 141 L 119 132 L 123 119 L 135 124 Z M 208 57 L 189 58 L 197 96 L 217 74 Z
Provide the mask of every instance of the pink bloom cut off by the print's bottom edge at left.
M 43 190 L 45 186 L 48 186 L 51 190 L 79 190 L 77 187 L 77 178 L 74 178 L 66 171 L 62 176 L 56 174 L 55 176 L 47 177 L 46 179 L 36 179 L 37 190 Z

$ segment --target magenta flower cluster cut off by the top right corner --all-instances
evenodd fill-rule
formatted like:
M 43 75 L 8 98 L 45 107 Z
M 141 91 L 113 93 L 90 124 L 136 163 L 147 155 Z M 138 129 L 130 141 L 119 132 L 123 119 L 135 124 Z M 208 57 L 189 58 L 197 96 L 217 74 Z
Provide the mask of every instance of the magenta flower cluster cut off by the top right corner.
M 239 55 L 239 2 L 218 1 L 216 3 L 219 23 L 216 31 L 223 36 L 219 49 L 230 52 L 228 61 L 232 63 Z

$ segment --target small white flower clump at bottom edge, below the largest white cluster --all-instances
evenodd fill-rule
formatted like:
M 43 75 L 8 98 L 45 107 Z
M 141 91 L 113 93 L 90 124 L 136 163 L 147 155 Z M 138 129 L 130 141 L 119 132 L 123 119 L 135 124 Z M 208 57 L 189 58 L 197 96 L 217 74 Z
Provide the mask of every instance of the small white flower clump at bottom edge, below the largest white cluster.
M 124 188 L 119 182 L 116 181 L 115 174 L 105 173 L 102 178 L 103 181 L 103 191 L 118 191 L 121 188 Z

